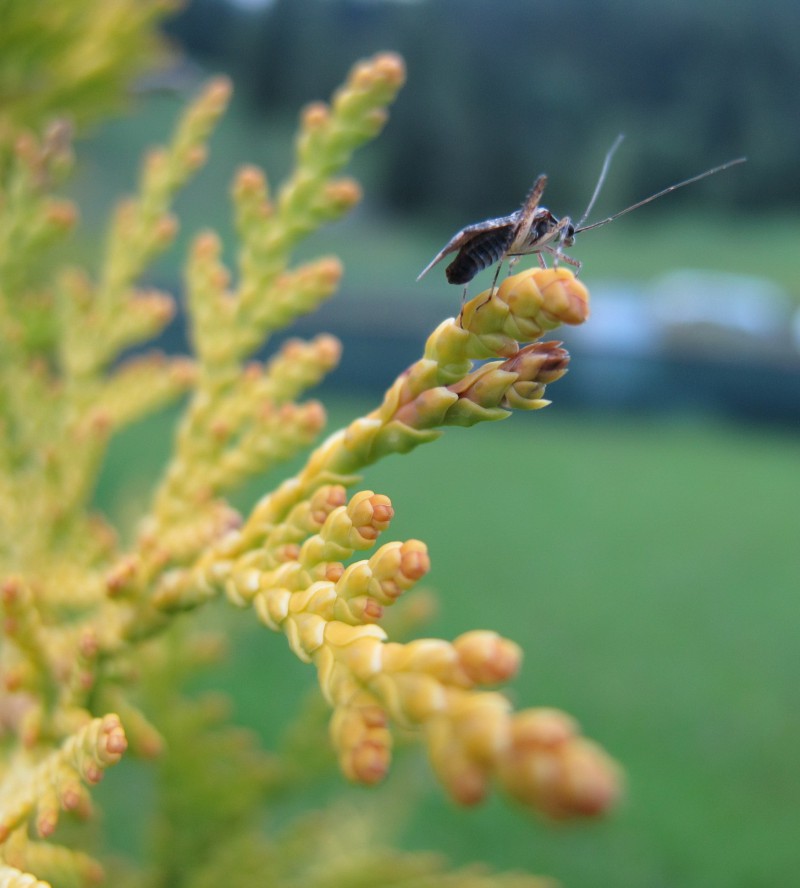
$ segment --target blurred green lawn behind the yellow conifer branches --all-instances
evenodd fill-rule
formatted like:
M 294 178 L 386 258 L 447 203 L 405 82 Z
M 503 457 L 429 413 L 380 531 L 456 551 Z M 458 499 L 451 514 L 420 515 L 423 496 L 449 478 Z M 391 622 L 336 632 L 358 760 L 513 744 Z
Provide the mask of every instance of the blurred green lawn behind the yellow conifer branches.
M 452 430 L 371 468 L 366 483 L 392 497 L 388 538 L 430 548 L 441 601 L 430 634 L 485 627 L 519 642 L 517 705 L 575 715 L 624 765 L 627 798 L 605 822 L 555 827 L 497 799 L 456 809 L 423 764 L 406 762 L 390 778 L 405 798 L 419 791 L 403 841 L 571 888 L 792 884 L 797 441 L 564 416 L 552 394 L 546 411 Z M 334 421 L 360 409 L 340 403 Z M 110 454 L 100 500 L 123 523 L 168 431 L 152 421 Z M 275 713 L 290 717 L 313 676 L 250 615 L 241 623 L 220 683 L 271 742 Z

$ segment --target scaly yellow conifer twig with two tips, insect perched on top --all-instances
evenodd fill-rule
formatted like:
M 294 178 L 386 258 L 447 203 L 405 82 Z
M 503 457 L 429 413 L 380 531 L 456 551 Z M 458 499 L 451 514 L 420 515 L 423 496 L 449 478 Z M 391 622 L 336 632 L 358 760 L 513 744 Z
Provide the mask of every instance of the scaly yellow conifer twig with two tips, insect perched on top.
M 285 520 L 320 480 L 352 484 L 365 466 L 434 440 L 441 427 L 546 406 L 544 387 L 564 375 L 569 356 L 558 343 L 523 345 L 513 334 L 536 337 L 559 322 L 577 324 L 586 317 L 588 292 L 563 268 L 530 269 L 508 278 L 493 295 L 479 294 L 460 319 L 437 327 L 424 357 L 395 380 L 377 410 L 331 435 L 294 478 L 259 503 L 245 535 L 251 521 Z M 473 370 L 475 360 L 491 357 L 502 360 Z

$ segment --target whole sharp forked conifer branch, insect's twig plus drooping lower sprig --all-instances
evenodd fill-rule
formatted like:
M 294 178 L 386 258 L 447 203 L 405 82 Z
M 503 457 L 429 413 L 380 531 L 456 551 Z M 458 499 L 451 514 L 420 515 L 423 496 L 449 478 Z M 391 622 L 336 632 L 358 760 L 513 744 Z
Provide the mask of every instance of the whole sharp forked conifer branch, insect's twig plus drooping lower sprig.
M 616 766 L 572 719 L 547 709 L 514 713 L 500 693 L 483 689 L 513 677 L 515 644 L 482 631 L 452 643 L 388 640 L 377 624 L 428 571 L 423 543 L 387 543 L 348 563 L 375 545 L 393 516 L 389 499 L 372 491 L 345 501 L 353 473 L 431 440 L 439 427 L 545 406 L 545 385 L 564 374 L 567 354 L 558 343 L 520 339 L 580 323 L 587 313 L 586 289 L 564 269 L 525 271 L 491 297 L 476 296 L 431 335 L 425 356 L 376 411 L 332 435 L 241 528 L 160 584 L 153 603 L 163 610 L 224 591 L 315 664 L 351 779 L 371 784 L 386 775 L 393 722 L 420 732 L 437 775 L 463 803 L 482 799 L 492 782 L 553 817 L 599 813 L 618 795 Z M 499 360 L 472 369 L 488 357 Z

